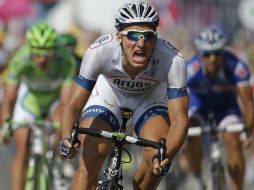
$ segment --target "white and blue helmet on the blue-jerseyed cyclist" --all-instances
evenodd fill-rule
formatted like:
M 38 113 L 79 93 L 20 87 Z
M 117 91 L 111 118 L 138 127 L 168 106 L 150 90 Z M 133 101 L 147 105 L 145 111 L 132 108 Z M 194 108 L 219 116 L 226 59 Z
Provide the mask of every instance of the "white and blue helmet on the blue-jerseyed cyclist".
M 209 27 L 202 31 L 195 39 L 199 51 L 220 50 L 226 43 L 226 37 L 218 27 Z

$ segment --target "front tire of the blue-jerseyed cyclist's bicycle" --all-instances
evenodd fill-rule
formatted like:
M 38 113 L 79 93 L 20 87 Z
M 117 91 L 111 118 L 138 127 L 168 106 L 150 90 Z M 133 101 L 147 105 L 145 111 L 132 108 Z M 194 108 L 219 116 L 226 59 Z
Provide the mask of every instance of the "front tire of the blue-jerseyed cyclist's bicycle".
M 226 190 L 226 178 L 221 163 L 215 163 L 212 167 L 212 190 Z

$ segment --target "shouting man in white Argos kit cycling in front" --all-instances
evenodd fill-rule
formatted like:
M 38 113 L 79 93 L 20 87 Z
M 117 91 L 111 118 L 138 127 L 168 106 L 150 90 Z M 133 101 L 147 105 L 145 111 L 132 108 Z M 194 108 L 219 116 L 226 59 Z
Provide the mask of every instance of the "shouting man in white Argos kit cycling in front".
M 122 120 L 120 108 L 126 107 L 133 111 L 138 136 L 154 141 L 166 137 L 167 159 L 161 166 L 169 168 L 187 134 L 187 71 L 183 55 L 157 37 L 158 24 L 158 13 L 149 4 L 125 4 L 116 16 L 118 32 L 99 37 L 88 48 L 62 112 L 60 148 L 64 157 L 73 158 L 79 148 L 78 144 L 72 148 L 69 142 L 75 120 L 81 116 L 84 127 L 117 130 Z M 95 189 L 110 142 L 81 138 L 81 159 L 72 189 Z M 161 177 L 155 155 L 152 148 L 143 150 L 134 189 L 158 186 Z

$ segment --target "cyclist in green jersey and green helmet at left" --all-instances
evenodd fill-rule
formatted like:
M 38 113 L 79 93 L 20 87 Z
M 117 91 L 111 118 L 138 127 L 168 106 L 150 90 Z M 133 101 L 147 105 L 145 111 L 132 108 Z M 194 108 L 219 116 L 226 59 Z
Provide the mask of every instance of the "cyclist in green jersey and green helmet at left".
M 60 101 L 64 103 L 76 71 L 76 63 L 65 48 L 57 46 L 57 33 L 46 22 L 38 22 L 26 33 L 27 43 L 9 63 L 1 122 L 29 123 L 44 115 L 60 126 Z M 22 190 L 27 167 L 29 129 L 13 124 L 16 154 L 13 160 L 12 189 Z M 58 137 L 60 138 L 60 137 Z M 5 138 L 5 140 L 8 140 Z

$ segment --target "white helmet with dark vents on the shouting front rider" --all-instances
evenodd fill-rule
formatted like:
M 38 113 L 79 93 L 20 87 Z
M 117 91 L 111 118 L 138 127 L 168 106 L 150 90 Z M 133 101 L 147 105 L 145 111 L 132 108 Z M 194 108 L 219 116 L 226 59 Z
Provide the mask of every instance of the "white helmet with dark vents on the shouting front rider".
M 155 27 L 159 25 L 159 14 L 148 3 L 141 1 L 125 4 L 119 9 L 115 19 L 118 31 L 133 24 L 147 23 Z

